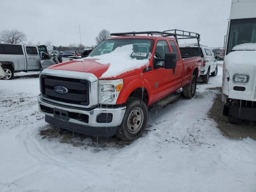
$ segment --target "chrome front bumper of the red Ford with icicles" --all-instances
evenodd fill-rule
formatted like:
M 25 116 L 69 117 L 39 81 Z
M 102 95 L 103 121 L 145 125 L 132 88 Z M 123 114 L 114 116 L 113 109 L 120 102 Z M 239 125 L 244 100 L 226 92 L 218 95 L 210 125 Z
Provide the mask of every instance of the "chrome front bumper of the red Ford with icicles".
M 126 106 L 86 109 L 62 105 L 44 100 L 41 94 L 38 96 L 38 107 L 40 112 L 46 115 L 46 122 L 91 136 L 113 136 L 116 133 L 117 126 L 122 123 L 126 111 Z M 56 111 L 58 113 L 60 111 L 60 114 L 56 115 Z M 97 122 L 97 117 L 102 113 L 112 114 L 112 121 Z M 74 114 L 80 118 L 74 118 Z M 86 122 L 81 116 L 86 116 Z

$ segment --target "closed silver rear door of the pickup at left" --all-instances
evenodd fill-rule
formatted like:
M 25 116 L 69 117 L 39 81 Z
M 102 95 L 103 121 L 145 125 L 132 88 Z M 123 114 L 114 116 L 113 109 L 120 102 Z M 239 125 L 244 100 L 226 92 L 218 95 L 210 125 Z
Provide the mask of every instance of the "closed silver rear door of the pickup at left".
M 40 56 L 36 46 L 25 46 L 27 70 L 40 69 Z

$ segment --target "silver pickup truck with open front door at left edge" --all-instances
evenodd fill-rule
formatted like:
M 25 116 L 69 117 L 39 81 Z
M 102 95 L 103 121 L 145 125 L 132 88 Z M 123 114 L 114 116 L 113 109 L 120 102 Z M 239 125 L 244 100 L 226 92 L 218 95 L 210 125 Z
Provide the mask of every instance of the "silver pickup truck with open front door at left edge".
M 4 80 L 11 80 L 14 72 L 38 71 L 55 64 L 45 45 L 0 44 L 0 62 Z

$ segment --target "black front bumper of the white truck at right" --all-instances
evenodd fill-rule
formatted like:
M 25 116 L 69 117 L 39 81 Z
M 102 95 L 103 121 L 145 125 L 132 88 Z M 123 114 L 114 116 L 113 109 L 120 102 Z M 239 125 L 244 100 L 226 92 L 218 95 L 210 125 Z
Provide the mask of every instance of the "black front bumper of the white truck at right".
M 224 104 L 223 115 L 242 120 L 256 121 L 256 108 L 232 106 Z

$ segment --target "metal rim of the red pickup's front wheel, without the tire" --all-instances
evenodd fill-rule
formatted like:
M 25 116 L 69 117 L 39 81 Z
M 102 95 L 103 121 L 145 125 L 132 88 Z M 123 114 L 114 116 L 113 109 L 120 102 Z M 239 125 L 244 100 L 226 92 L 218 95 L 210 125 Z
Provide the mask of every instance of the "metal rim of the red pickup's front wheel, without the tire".
M 134 108 L 128 117 L 128 131 L 132 134 L 137 133 L 140 128 L 142 127 L 143 124 L 143 120 L 144 120 L 144 114 L 142 112 L 142 109 L 136 107 Z

